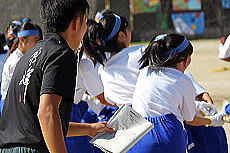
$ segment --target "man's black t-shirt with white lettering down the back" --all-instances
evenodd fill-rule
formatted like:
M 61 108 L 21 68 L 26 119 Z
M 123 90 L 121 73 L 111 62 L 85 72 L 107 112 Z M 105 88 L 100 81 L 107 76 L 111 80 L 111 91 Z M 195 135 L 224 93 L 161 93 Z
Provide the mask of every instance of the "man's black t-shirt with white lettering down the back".
M 73 50 L 58 34 L 46 34 L 15 68 L 0 118 L 0 148 L 15 144 L 46 148 L 37 117 L 42 94 L 62 96 L 59 113 L 66 136 L 75 81 Z

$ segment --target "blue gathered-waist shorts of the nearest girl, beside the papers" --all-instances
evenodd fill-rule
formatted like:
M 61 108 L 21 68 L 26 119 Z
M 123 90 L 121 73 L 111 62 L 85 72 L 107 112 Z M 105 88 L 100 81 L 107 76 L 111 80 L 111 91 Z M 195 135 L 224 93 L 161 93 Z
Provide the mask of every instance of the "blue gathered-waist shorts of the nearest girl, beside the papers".
M 147 117 L 154 128 L 128 153 L 185 153 L 185 136 L 181 122 L 173 114 Z

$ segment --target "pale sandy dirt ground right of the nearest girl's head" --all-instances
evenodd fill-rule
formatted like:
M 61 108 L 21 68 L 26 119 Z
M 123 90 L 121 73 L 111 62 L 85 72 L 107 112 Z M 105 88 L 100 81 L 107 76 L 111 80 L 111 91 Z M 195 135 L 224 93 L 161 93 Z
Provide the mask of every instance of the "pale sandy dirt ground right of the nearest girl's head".
M 222 67 L 230 68 L 230 63 L 217 58 L 219 40 L 194 40 L 191 42 L 194 53 L 188 71 L 211 94 L 214 104 L 221 110 L 223 100 L 230 99 L 230 70 L 218 72 L 210 72 L 210 70 L 217 70 Z M 224 128 L 230 150 L 230 123 L 226 123 Z

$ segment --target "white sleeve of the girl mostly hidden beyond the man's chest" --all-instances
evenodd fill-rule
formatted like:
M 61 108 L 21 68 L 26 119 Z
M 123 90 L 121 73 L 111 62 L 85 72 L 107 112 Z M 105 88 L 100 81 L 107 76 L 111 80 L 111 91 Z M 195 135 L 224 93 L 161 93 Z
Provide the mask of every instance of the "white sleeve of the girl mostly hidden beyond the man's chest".
M 79 73 L 82 75 L 83 84 L 90 96 L 95 97 L 104 92 L 98 70 L 90 59 L 81 60 L 79 63 Z

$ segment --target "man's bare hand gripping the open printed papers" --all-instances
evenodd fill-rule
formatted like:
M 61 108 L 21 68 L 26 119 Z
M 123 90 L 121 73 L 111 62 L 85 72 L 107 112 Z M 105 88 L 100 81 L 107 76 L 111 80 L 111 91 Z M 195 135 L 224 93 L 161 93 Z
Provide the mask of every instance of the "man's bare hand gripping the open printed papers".
M 91 123 L 91 130 L 89 132 L 90 137 L 95 137 L 98 133 L 108 131 L 108 132 L 116 132 L 115 129 L 107 126 L 107 122 L 99 122 L 99 123 Z

